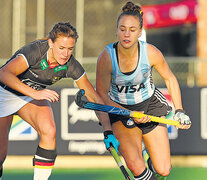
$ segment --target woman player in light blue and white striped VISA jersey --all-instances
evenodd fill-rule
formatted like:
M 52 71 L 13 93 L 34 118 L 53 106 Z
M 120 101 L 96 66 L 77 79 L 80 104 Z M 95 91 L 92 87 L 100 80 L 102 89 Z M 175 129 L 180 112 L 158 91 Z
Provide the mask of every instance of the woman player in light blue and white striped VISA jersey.
M 165 117 L 171 108 L 152 81 L 152 68 L 164 79 L 172 97 L 178 128 L 188 129 L 179 84 L 162 53 L 153 45 L 139 41 L 143 28 L 143 12 L 139 5 L 127 2 L 117 20 L 118 42 L 103 50 L 98 58 L 96 88 L 105 104 Z M 113 132 L 134 180 L 157 179 L 155 173 L 168 176 L 171 170 L 167 127 L 149 118 L 129 119 L 109 115 Z M 142 140 L 149 152 L 153 168 L 146 168 L 142 157 Z M 154 171 L 155 173 L 152 173 Z

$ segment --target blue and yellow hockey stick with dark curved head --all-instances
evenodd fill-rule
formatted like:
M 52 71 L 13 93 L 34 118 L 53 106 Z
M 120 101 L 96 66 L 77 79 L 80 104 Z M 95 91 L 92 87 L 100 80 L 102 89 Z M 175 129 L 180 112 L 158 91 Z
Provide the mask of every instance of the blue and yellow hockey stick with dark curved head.
M 168 125 L 173 125 L 173 126 L 180 125 L 180 123 L 175 120 L 160 118 L 156 116 L 150 116 L 150 115 L 142 114 L 136 111 L 130 111 L 130 110 L 117 108 L 113 106 L 88 102 L 88 101 L 82 100 L 82 97 L 84 96 L 84 94 L 85 94 L 85 91 L 81 89 L 77 92 L 75 96 L 76 104 L 82 108 L 96 110 L 96 111 L 103 111 L 103 112 L 107 112 L 111 114 L 122 115 L 122 116 L 133 117 L 133 118 L 142 118 L 142 117 L 148 116 L 151 118 L 151 121 L 153 122 L 158 122 L 158 123 L 163 123 L 163 124 L 168 124 Z

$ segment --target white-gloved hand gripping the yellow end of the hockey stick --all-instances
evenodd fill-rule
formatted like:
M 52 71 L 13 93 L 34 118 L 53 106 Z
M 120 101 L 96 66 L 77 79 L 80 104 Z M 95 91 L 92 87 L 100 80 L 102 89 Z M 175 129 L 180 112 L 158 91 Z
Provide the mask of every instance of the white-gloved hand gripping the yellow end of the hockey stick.
M 185 111 L 182 109 L 177 109 L 175 111 L 174 120 L 179 121 L 180 125 L 177 126 L 179 129 L 189 129 L 191 127 L 191 121 L 188 115 L 185 114 Z

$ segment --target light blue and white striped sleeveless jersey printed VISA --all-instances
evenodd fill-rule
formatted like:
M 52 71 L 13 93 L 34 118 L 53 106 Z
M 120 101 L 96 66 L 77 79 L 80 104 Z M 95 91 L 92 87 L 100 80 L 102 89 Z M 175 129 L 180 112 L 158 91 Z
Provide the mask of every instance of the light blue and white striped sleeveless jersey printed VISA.
M 106 46 L 112 62 L 110 98 L 120 104 L 133 105 L 149 99 L 155 90 L 152 81 L 152 67 L 147 56 L 147 43 L 139 41 L 140 55 L 136 69 L 130 75 L 119 69 L 116 44 Z

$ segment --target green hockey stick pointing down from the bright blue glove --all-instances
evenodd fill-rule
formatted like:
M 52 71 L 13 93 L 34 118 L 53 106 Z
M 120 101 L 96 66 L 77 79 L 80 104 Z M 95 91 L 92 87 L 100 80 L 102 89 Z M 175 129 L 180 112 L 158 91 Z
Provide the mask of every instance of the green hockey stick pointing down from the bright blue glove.
M 121 169 L 121 172 L 123 173 L 124 177 L 126 180 L 131 180 L 128 172 L 126 171 L 118 153 L 116 152 L 116 150 L 114 149 L 114 147 L 110 147 L 109 149 L 109 152 L 111 153 L 111 155 L 113 156 L 113 158 L 115 159 L 117 165 L 119 166 L 119 168 Z

